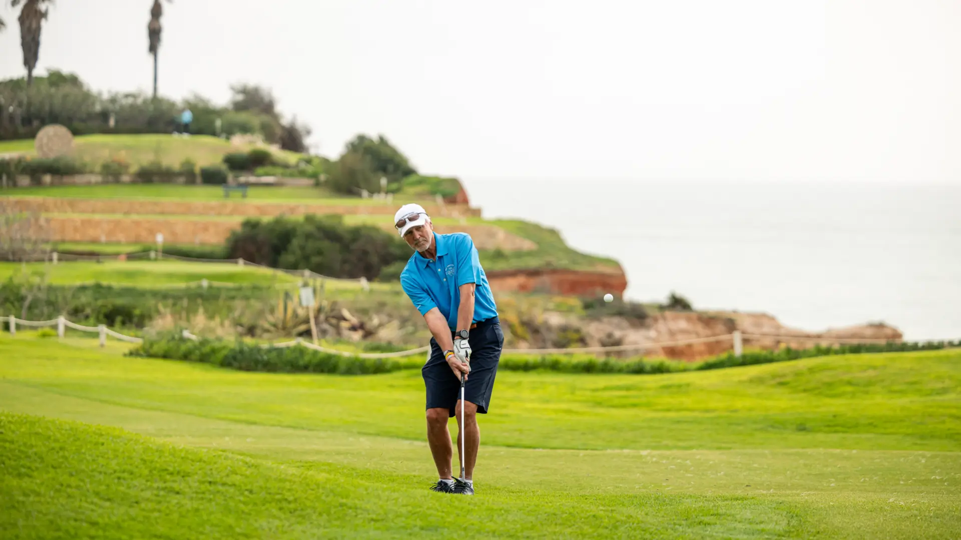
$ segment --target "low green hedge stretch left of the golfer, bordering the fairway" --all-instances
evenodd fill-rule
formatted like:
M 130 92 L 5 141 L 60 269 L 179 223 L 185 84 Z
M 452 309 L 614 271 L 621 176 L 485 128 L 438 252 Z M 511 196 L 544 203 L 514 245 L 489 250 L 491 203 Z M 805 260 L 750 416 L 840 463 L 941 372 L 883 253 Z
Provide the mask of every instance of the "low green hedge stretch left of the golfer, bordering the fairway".
M 389 373 L 420 367 L 424 363 L 421 356 L 406 359 L 360 358 L 322 353 L 306 347 L 259 347 L 240 341 L 193 341 L 178 337 L 145 340 L 128 355 L 202 362 L 240 371 L 337 375 Z

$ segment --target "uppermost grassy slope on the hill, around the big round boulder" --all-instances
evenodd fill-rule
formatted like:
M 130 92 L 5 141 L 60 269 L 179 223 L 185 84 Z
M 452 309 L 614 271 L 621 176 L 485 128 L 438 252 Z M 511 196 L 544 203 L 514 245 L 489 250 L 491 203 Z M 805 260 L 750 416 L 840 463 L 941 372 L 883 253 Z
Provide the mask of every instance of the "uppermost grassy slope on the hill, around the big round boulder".
M 137 165 L 160 160 L 171 166 L 180 165 L 185 159 L 204 166 L 219 163 L 224 155 L 243 152 L 250 147 L 237 148 L 229 141 L 209 135 L 193 135 L 189 138 L 173 135 L 80 135 L 74 139 L 74 152 L 78 159 L 94 164 L 122 159 Z M 0 154 L 26 152 L 34 155 L 33 140 L 0 141 Z M 296 162 L 295 152 L 278 153 L 284 160 Z

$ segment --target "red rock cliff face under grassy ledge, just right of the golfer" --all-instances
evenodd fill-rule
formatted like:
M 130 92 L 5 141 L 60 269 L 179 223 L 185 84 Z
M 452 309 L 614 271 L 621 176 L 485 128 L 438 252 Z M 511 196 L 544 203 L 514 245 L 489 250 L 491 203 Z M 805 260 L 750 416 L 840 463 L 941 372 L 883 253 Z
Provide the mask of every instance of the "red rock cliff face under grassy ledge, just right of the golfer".
M 620 297 L 628 288 L 624 272 L 580 270 L 496 270 L 487 272 L 491 289 L 504 292 L 541 292 L 568 296 Z

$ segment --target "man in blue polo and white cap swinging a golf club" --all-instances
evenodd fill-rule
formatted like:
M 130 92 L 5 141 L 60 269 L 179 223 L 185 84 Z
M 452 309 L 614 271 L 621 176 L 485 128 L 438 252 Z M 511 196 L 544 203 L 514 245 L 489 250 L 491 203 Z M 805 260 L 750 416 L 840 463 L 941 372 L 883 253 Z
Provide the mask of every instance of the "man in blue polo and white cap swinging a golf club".
M 480 447 L 477 413 L 486 414 L 494 376 L 504 347 L 497 306 L 480 267 L 478 250 L 469 234 L 437 234 L 420 205 L 405 205 L 394 215 L 394 226 L 414 249 L 401 285 L 430 329 L 431 358 L 421 370 L 427 387 L 427 440 L 440 477 L 434 491 L 474 495 L 474 465 Z M 469 375 L 468 375 L 469 374 Z M 466 378 L 464 402 L 460 377 Z M 459 426 L 463 407 L 463 424 Z M 457 449 L 462 477 L 451 469 L 451 434 L 447 421 L 456 416 Z M 461 444 L 461 437 L 466 437 Z

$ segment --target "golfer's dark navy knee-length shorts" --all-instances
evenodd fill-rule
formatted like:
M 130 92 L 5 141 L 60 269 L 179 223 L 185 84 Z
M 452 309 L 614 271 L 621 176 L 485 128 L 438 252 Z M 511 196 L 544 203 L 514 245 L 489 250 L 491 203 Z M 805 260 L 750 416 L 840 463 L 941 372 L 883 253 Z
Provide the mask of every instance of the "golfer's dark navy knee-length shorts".
M 471 344 L 471 373 L 464 384 L 464 399 L 478 405 L 478 412 L 486 414 L 494 391 L 494 376 L 504 348 L 504 332 L 497 317 L 478 323 L 471 330 L 467 342 Z M 444 359 L 444 352 L 431 337 L 431 358 L 421 369 L 427 387 L 427 408 L 446 408 L 453 417 L 460 399 L 460 380 Z

